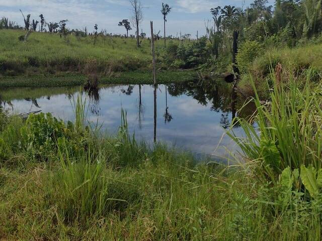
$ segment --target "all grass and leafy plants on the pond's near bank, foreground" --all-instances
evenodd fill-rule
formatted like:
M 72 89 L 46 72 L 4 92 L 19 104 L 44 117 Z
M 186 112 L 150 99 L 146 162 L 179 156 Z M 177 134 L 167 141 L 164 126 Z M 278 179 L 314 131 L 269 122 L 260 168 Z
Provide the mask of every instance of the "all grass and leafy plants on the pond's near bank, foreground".
M 309 76 L 308 76 L 309 77 Z M 261 136 L 245 139 L 238 166 L 198 163 L 162 144 L 137 143 L 126 112 L 116 136 L 51 114 L 0 118 L 0 235 L 6 239 L 319 240 L 320 88 L 273 77 L 257 105 Z M 293 81 L 292 81 L 293 82 Z M 285 89 L 289 88 L 289 91 Z

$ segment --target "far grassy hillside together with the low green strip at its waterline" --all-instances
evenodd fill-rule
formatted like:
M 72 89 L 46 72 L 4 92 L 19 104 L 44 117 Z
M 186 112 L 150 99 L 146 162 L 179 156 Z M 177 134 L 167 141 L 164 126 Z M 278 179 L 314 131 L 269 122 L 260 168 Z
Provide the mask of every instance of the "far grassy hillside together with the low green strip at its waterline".
M 99 36 L 94 45 L 93 36 L 68 36 L 65 40 L 57 34 L 32 33 L 24 43 L 18 40 L 23 34 L 23 31 L 0 30 L 0 87 L 84 84 L 87 79 L 84 66 L 90 58 L 97 60 L 98 72 L 103 76 L 100 83 L 152 83 L 147 39 L 137 48 L 135 39 L 131 38 Z M 157 41 L 156 46 L 162 47 L 162 42 Z M 187 71 L 162 71 L 157 77 L 159 83 L 166 83 L 192 80 L 195 76 Z

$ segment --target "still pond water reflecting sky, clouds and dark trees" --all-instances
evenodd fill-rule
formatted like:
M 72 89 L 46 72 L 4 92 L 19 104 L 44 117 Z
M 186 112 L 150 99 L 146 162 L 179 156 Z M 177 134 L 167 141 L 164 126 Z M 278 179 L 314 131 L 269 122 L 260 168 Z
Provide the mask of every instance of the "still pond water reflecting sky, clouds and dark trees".
M 1 103 L 16 113 L 42 110 L 64 120 L 73 120 L 72 95 L 82 92 L 89 103 L 88 120 L 103 123 L 103 130 L 116 133 L 121 109 L 127 111 L 129 131 L 137 139 L 153 142 L 154 87 L 151 85 L 110 85 L 90 94 L 79 87 L 19 88 L 0 91 Z M 157 88 L 156 139 L 197 155 L 227 156 L 236 146 L 226 135 L 235 115 L 246 117 L 254 108 L 232 94 L 226 83 L 180 83 Z M 243 130 L 234 128 L 242 136 Z

